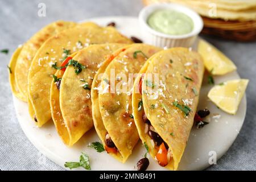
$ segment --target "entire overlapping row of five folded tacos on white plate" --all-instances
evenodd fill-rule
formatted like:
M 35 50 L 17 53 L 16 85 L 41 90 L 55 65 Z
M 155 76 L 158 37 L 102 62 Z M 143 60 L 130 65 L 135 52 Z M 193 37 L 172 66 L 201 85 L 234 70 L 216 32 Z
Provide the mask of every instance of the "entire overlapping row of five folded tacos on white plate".
M 198 53 L 134 44 L 114 27 L 59 21 L 19 47 L 9 66 L 14 95 L 28 103 L 37 126 L 53 121 L 67 146 L 94 126 L 120 162 L 141 138 L 161 166 L 177 169 L 203 79 Z

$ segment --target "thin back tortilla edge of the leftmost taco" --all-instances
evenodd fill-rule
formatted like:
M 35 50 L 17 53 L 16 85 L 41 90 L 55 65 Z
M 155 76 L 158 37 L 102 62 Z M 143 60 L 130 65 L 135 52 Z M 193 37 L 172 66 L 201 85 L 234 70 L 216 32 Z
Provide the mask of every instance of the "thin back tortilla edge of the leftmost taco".
M 9 72 L 9 82 L 11 85 L 11 91 L 13 92 L 14 96 L 19 98 L 20 100 L 26 102 L 27 98 L 24 97 L 20 92 L 19 89 L 16 85 L 15 82 L 15 67 L 16 67 L 16 63 L 17 63 L 17 59 L 18 56 L 20 54 L 20 51 L 22 51 L 23 46 L 20 46 L 18 48 L 16 48 L 15 52 L 13 53 L 13 56 L 11 56 L 11 60 L 9 63 L 9 68 L 10 68 L 10 72 Z

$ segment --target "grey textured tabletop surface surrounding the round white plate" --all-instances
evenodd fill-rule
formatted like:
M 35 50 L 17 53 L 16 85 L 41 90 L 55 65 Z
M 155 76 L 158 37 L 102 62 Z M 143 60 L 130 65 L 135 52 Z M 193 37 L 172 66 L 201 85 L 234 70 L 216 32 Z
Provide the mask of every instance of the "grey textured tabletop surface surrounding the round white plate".
M 38 3 L 47 6 L 47 16 L 38 17 Z M 143 7 L 141 0 L 0 0 L 0 169 L 2 170 L 62 170 L 44 158 L 28 141 L 15 116 L 6 65 L 11 54 L 36 31 L 58 19 L 79 21 L 96 16 L 137 16 Z M 205 37 L 224 52 L 238 67 L 242 78 L 249 78 L 245 123 L 229 151 L 208 170 L 256 169 L 256 43 L 236 43 Z

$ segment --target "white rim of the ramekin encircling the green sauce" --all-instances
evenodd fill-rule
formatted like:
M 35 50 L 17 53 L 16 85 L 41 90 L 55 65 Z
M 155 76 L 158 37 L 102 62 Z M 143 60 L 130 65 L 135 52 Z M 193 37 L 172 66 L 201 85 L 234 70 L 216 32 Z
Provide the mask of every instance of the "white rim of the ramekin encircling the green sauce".
M 160 9 L 171 9 L 171 10 L 179 11 L 181 13 L 188 15 L 193 21 L 193 30 L 188 34 L 184 34 L 184 35 L 169 35 L 169 34 L 164 34 L 162 32 L 152 29 L 147 24 L 147 18 L 151 13 Z M 191 36 L 198 35 L 204 26 L 203 19 L 199 14 L 196 13 L 196 11 L 189 9 L 186 6 L 179 5 L 177 3 L 156 3 L 156 4 L 152 4 L 144 7 L 139 13 L 139 23 L 142 25 L 144 29 L 146 29 L 146 31 L 151 32 L 151 34 L 154 34 L 163 38 L 169 38 L 169 39 L 185 39 Z

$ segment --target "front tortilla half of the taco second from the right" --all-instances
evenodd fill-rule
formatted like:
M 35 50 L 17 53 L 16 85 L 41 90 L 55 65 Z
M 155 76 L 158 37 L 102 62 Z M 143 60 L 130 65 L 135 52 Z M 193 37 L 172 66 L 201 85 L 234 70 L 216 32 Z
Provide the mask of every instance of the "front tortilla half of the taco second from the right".
M 102 122 L 104 123 L 106 131 L 110 135 L 112 141 L 117 147 L 117 154 L 115 158 L 124 163 L 131 154 L 133 147 L 138 141 L 138 132 L 134 124 L 134 119 L 131 117 L 131 91 L 133 88 L 133 81 L 135 77 L 130 77 L 128 81 L 129 73 L 138 73 L 147 58 L 154 53 L 160 51 L 161 48 L 149 46 L 146 44 L 133 44 L 129 48 L 119 53 L 108 65 L 104 75 L 101 77 L 101 90 L 98 94 L 98 104 L 101 113 Z M 134 57 L 134 52 L 141 51 L 137 54 L 137 58 Z M 110 78 L 111 72 L 115 71 L 115 78 Z M 126 76 L 127 80 L 119 80 L 119 73 L 122 73 L 122 78 Z M 135 75 L 133 75 L 135 76 Z M 97 78 L 94 78 L 96 81 Z M 113 93 L 106 93 L 104 90 L 109 90 L 109 84 L 115 84 Z M 126 85 L 127 89 L 117 89 L 118 85 Z M 96 109 L 93 109 L 96 111 Z M 97 114 L 98 115 L 98 114 Z M 98 125 L 96 125 L 98 126 Z M 100 128 L 98 130 L 101 130 Z M 102 142 L 105 144 L 104 132 L 98 132 Z M 103 135 L 103 136 L 102 136 Z M 103 140 L 104 139 L 104 140 Z M 106 147 L 106 146 L 105 146 Z

